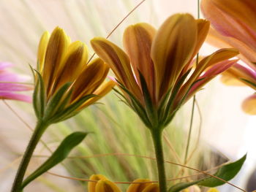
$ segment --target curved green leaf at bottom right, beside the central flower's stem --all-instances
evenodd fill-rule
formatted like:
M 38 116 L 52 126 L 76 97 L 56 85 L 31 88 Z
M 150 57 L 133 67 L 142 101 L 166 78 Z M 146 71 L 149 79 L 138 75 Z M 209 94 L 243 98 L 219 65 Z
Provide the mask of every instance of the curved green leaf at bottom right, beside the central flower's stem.
M 217 172 L 214 174 L 214 176 L 219 177 L 222 180 L 229 181 L 233 179 L 233 177 L 238 174 L 238 172 L 241 169 L 241 166 L 243 166 L 244 161 L 246 160 L 246 155 L 244 155 L 242 158 L 240 158 L 238 161 L 235 161 L 230 164 L 226 164 L 222 167 L 220 167 Z M 188 188 L 191 185 L 201 185 L 205 187 L 210 187 L 214 188 L 219 185 L 225 184 L 224 181 L 219 180 L 215 177 L 206 177 L 201 180 L 189 182 L 189 183 L 178 183 L 176 185 L 173 185 L 172 187 L 169 188 L 168 192 L 178 192 L 181 191 L 185 188 Z

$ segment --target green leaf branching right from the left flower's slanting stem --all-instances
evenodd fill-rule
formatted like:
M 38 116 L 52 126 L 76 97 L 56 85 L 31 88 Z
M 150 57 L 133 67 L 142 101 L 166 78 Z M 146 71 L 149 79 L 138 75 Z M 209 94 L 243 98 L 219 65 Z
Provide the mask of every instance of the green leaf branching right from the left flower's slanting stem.
M 41 174 L 47 172 L 53 166 L 61 163 L 67 155 L 69 155 L 70 151 L 77 146 L 83 139 L 86 137 L 88 133 L 77 131 L 75 133 L 69 134 L 59 145 L 59 147 L 53 152 L 53 154 L 45 161 L 37 170 L 35 170 L 26 180 L 23 181 L 21 188 L 23 189 L 31 183 L 32 180 L 35 180 Z

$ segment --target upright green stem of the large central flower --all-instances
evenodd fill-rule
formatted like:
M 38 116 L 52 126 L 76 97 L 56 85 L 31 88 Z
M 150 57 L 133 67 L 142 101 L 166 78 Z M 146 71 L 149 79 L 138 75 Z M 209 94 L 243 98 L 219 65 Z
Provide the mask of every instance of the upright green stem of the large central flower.
M 162 150 L 162 128 L 151 128 L 151 136 L 154 142 L 154 151 L 157 158 L 157 170 L 160 192 L 166 192 L 165 160 Z

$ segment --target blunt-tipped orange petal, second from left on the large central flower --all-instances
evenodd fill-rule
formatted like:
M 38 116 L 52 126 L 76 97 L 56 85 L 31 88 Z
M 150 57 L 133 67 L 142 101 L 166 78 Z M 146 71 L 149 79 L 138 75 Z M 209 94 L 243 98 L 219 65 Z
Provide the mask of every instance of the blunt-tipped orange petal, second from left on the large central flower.
M 124 48 L 129 55 L 133 71 L 138 82 L 140 82 L 138 71 L 143 75 L 152 99 L 154 99 L 155 78 L 154 64 L 151 60 L 150 52 L 155 34 L 156 29 L 147 23 L 138 23 L 134 26 L 129 26 L 124 31 Z

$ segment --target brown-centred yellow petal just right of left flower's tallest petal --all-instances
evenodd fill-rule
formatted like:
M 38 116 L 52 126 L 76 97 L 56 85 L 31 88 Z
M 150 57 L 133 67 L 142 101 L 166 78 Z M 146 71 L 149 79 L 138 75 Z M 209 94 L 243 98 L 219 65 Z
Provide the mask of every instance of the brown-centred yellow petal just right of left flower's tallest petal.
M 78 74 L 85 68 L 88 58 L 88 50 L 83 42 L 73 42 L 69 45 L 67 53 L 64 55 L 59 72 L 56 75 L 56 90 L 66 82 L 73 82 L 78 78 Z

